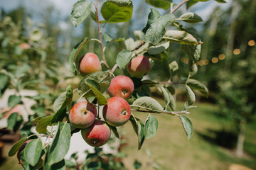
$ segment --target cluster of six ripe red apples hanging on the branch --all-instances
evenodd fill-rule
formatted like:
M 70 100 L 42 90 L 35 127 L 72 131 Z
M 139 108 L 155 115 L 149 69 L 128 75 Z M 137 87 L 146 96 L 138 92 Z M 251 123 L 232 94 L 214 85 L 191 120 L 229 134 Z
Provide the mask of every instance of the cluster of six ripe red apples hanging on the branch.
M 80 60 L 79 71 L 82 76 L 101 71 L 100 60 L 92 52 L 85 54 Z M 127 65 L 132 77 L 142 78 L 150 70 L 150 62 L 144 55 L 134 57 Z M 87 101 L 75 103 L 69 113 L 70 123 L 80 128 L 82 137 L 88 145 L 100 147 L 110 139 L 110 126 L 121 126 L 127 123 L 131 116 L 131 108 L 127 99 L 132 96 L 134 83 L 127 76 L 119 75 L 111 80 L 108 88 L 111 98 L 103 107 L 102 115 L 105 121 L 97 118 L 97 108 Z

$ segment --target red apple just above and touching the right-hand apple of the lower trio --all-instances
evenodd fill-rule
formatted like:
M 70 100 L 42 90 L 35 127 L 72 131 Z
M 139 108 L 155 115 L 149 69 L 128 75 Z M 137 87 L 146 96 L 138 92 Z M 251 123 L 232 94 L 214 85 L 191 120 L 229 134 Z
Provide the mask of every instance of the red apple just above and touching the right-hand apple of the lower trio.
M 128 99 L 132 96 L 134 91 L 134 83 L 132 79 L 127 76 L 119 75 L 111 80 L 110 87 L 107 89 L 110 96 L 118 96 Z

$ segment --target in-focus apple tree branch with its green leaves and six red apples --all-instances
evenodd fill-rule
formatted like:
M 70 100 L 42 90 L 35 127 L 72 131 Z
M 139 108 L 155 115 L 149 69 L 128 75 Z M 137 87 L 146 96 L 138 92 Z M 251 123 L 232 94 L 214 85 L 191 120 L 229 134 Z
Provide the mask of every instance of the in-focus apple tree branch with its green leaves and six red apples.
M 202 18 L 191 12 L 180 16 L 174 13 L 183 4 L 187 3 L 189 7 L 196 2 L 183 0 L 173 4 L 171 0 L 146 1 L 156 8 L 164 8 L 166 13 L 161 14 L 156 8 L 151 8 L 146 26 L 134 31 L 137 40 L 114 39 L 110 33 L 104 32 L 105 26 L 127 22 L 132 18 L 132 0 L 107 0 L 102 4 L 97 0 L 76 2 L 71 12 L 73 25 L 77 27 L 85 18 L 91 17 L 99 33 L 98 38 L 82 38 L 70 52 L 70 69 L 75 77 L 80 77 L 80 83 L 75 87 L 69 85 L 58 96 L 53 104 L 54 114 L 35 119 L 38 133 L 22 135 L 21 140 L 11 147 L 9 156 L 14 156 L 23 143 L 33 136 L 36 138 L 18 152 L 23 168 L 36 169 L 40 165 L 43 169 L 65 169 L 70 164 L 64 157 L 75 132 L 81 130 L 85 142 L 100 153 L 97 147 L 107 143 L 111 132 L 119 138 L 117 127 L 128 121 L 137 134 L 138 149 L 141 149 L 144 142 L 158 131 L 159 122 L 154 114 L 178 116 L 188 139 L 191 138 L 193 125 L 186 115 L 196 107 L 194 91 L 201 91 L 207 96 L 208 90 L 200 81 L 193 79 L 203 42 L 195 28 L 184 28 L 182 23 L 198 23 Z M 90 49 L 80 54 L 82 48 L 92 41 L 98 43 L 100 55 Z M 106 52 L 107 44 L 111 42 L 119 44 L 115 56 Z M 180 56 L 171 55 L 169 51 L 174 43 L 179 45 L 176 50 L 181 50 L 181 55 L 188 60 L 186 76 L 178 72 Z M 177 86 L 187 94 L 182 111 L 176 111 L 173 95 Z M 151 97 L 152 88 L 161 92 L 166 101 L 164 107 Z M 73 98 L 75 93 L 80 98 Z M 134 115 L 135 112 L 149 115 L 146 120 L 140 120 Z M 101 160 L 98 154 L 95 157 Z M 97 168 L 103 167 L 103 163 L 97 164 Z M 88 169 L 94 165 L 85 163 Z

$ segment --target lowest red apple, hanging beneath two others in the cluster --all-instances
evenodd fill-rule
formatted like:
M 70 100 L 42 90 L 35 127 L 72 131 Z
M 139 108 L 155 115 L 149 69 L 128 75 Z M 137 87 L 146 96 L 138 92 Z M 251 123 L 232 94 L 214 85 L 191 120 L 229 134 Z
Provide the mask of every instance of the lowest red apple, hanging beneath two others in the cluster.
M 96 119 L 90 127 L 81 130 L 82 138 L 92 147 L 100 147 L 110 140 L 111 130 L 107 123 Z

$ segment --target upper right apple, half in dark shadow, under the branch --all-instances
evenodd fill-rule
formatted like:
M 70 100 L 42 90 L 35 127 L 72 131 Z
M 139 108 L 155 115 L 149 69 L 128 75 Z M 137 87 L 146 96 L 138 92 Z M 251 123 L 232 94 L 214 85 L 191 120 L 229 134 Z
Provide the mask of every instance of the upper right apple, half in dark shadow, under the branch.
M 127 70 L 132 77 L 142 78 L 150 71 L 149 59 L 144 55 L 134 57 L 128 64 Z

